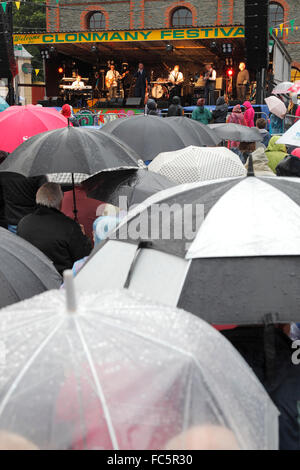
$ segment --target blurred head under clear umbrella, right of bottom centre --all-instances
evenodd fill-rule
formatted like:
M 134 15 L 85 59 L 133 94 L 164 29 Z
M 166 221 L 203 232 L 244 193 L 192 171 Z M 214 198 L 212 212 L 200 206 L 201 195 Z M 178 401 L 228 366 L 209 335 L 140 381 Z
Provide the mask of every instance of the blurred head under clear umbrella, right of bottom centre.
M 240 450 L 235 435 L 223 426 L 195 426 L 178 434 L 165 450 Z

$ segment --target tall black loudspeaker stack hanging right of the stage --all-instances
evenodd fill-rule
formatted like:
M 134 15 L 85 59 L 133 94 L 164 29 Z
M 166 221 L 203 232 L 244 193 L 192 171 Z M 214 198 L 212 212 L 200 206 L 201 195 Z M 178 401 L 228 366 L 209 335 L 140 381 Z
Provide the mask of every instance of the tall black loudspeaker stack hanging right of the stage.
M 258 71 L 269 62 L 269 0 L 245 0 L 247 68 Z

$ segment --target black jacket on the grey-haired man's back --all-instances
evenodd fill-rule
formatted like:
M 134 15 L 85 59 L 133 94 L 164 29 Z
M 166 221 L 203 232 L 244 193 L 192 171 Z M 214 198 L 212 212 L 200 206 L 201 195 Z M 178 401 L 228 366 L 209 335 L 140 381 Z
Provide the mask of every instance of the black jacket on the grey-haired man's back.
M 24 217 L 17 233 L 48 256 L 60 274 L 88 256 L 92 249 L 91 241 L 77 222 L 45 206 L 38 206 L 33 214 Z

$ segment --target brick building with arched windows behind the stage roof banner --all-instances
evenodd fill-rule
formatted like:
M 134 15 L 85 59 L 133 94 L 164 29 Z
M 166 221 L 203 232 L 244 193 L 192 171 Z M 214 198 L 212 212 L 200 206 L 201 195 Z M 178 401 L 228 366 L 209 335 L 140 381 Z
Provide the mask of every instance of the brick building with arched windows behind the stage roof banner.
M 51 7 L 47 10 L 48 32 L 244 24 L 244 0 L 60 0 L 59 7 L 56 0 L 47 0 L 47 4 Z M 300 67 L 298 11 L 299 0 L 270 2 L 271 26 L 284 23 L 283 42 Z

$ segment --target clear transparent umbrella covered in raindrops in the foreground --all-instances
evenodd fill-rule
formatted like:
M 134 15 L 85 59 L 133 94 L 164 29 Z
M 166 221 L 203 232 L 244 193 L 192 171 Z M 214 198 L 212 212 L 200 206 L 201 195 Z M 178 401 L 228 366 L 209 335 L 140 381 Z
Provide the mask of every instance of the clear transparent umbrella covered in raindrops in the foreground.
M 229 448 L 277 448 L 277 409 L 216 330 L 130 293 L 78 300 L 66 308 L 61 290 L 1 311 L 2 431 L 40 449 L 189 449 L 213 430 L 216 448 L 224 433 Z

